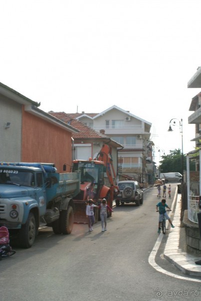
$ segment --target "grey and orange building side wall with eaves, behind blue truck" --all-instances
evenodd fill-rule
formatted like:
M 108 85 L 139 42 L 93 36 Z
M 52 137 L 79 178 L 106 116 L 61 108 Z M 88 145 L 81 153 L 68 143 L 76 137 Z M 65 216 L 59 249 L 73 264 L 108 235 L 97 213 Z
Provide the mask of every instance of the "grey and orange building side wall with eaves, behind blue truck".
M 39 105 L 0 83 L 0 162 L 54 163 L 62 172 L 64 163 L 71 166 L 71 137 L 79 130 Z

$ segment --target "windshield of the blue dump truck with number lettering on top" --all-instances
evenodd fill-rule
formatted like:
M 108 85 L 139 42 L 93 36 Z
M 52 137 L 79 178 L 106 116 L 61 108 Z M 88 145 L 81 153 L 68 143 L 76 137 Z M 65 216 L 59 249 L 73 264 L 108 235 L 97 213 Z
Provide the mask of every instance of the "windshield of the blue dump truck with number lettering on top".
M 29 171 L 0 168 L 0 184 L 34 186 L 34 175 Z

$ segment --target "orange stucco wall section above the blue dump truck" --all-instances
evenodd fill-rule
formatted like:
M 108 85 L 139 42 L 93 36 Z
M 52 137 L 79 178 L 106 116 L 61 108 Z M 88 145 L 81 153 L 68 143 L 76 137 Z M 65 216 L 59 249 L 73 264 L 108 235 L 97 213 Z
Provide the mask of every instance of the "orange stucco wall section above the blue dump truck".
M 72 164 L 71 136 L 68 132 L 22 107 L 22 153 L 23 162 L 55 163 L 59 173 L 63 164 Z M 67 166 L 66 172 L 70 172 Z

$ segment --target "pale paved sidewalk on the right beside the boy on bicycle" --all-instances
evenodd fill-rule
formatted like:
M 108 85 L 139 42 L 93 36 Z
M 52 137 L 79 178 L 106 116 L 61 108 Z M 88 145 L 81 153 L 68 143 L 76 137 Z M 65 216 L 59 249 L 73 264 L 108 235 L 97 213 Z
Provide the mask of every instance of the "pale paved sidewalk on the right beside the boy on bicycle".
M 180 213 L 181 195 L 178 195 L 173 218 L 175 228 L 170 228 L 170 233 L 164 250 L 164 257 L 185 274 L 201 277 L 201 265 L 197 265 L 195 263 L 195 261 L 201 260 L 201 256 L 199 257 L 198 255 L 185 252 L 185 228 L 181 228 Z

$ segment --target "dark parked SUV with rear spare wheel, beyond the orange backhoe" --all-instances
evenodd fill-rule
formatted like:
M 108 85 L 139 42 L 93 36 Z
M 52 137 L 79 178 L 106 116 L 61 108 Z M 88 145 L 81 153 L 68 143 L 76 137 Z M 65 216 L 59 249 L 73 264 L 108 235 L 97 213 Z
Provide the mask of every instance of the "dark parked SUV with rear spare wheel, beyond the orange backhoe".
M 137 181 L 120 181 L 118 187 L 120 192 L 115 200 L 117 206 L 120 202 L 122 204 L 135 202 L 137 206 L 143 203 L 143 190 Z

